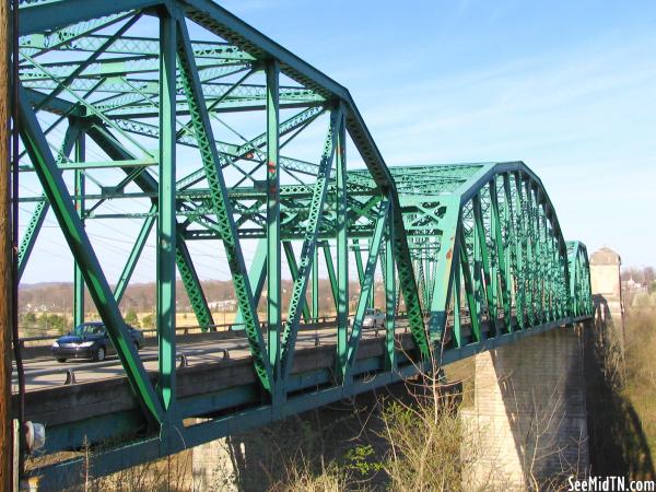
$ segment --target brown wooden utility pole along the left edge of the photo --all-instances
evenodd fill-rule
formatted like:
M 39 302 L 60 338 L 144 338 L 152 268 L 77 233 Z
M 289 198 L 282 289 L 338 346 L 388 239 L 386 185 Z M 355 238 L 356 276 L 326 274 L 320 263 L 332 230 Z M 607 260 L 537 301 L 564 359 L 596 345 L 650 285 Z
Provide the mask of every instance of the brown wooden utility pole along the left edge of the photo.
M 0 0 L 0 490 L 12 480 L 11 332 L 12 251 L 9 165 L 9 2 Z

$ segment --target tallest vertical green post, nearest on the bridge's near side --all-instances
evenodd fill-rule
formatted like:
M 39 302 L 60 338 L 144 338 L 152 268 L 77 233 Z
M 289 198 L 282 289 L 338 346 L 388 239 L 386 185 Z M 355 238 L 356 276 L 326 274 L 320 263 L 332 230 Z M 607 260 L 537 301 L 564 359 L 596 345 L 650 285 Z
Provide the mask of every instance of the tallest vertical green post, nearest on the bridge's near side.
M 176 21 L 160 14 L 160 188 L 157 192 L 156 294 L 160 378 L 162 405 L 168 409 L 175 398 L 175 108 Z

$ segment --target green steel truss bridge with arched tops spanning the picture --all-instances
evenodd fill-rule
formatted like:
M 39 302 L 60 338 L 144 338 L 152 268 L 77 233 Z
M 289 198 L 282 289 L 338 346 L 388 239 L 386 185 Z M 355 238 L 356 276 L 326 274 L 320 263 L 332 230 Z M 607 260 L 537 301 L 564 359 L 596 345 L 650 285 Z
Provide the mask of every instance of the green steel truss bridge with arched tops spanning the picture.
M 19 273 L 54 216 L 75 262 L 75 323 L 86 289 L 134 402 L 45 422 L 45 453 L 122 440 L 96 459 L 107 473 L 590 316 L 586 248 L 565 241 L 524 163 L 388 166 L 344 87 L 210 0 L 24 0 L 20 17 L 20 171 L 35 192 L 21 191 L 31 216 Z M 132 224 L 112 282 L 86 231 L 94 221 Z M 201 243 L 234 284 L 254 383 L 189 395 L 176 368 L 175 282 L 212 330 Z M 155 372 L 119 309 L 147 246 Z M 328 366 L 307 368 L 296 341 L 321 315 L 319 271 L 335 344 Z M 375 292 L 387 316 L 364 353 Z M 85 385 L 59 389 L 43 398 Z M 36 472 L 80 466 L 73 457 Z

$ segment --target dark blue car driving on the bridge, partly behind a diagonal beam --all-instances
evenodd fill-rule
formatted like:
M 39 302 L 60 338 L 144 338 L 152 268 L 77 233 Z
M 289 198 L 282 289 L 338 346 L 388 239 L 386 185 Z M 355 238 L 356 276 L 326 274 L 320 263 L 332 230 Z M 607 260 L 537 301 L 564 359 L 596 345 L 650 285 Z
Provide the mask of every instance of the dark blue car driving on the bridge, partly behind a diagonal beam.
M 143 333 L 131 326 L 128 331 L 137 350 L 143 347 Z M 57 362 L 66 362 L 67 359 L 91 359 L 104 361 L 109 354 L 116 353 L 116 349 L 105 325 L 101 321 L 83 323 L 68 335 L 58 338 L 52 343 L 52 356 Z

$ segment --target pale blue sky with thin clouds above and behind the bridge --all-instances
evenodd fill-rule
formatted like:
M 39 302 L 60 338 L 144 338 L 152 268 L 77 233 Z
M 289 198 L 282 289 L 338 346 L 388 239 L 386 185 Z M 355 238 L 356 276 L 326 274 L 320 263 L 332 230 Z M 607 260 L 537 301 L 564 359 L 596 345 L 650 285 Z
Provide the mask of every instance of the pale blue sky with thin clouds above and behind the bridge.
M 656 2 L 220 3 L 347 86 L 388 164 L 522 160 L 566 238 L 656 265 Z M 115 281 L 138 224 L 97 222 L 87 231 Z M 213 246 L 192 248 L 202 278 L 227 277 Z M 23 282 L 71 272 L 50 214 Z M 151 242 L 134 281 L 153 278 Z

